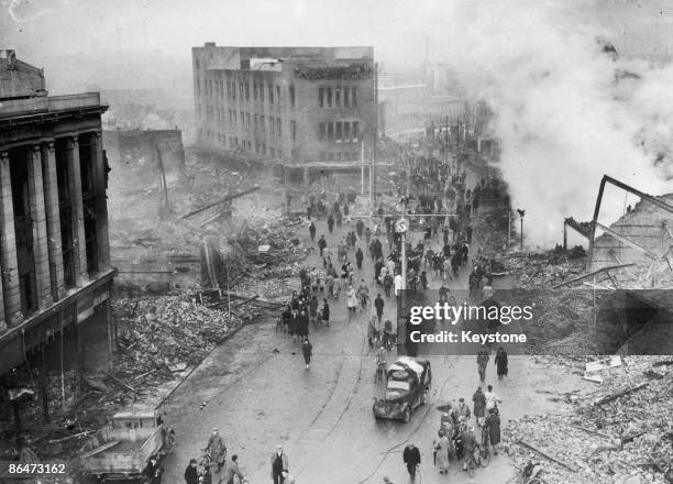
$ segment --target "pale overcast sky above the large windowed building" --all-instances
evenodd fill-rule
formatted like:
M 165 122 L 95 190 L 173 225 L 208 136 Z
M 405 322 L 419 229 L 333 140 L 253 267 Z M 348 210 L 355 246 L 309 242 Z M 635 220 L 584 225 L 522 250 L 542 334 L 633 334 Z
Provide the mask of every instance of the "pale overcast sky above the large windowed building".
M 560 22 L 604 29 L 624 53 L 673 51 L 671 1 L 562 2 L 574 7 Z M 147 87 L 157 75 L 189 79 L 190 47 L 207 41 L 374 45 L 379 61 L 408 68 L 422 62 L 426 36 L 433 58 L 450 57 L 452 38 L 474 20 L 473 3 L 493 3 L 494 16 L 501 8 L 478 0 L 0 0 L 0 44 L 45 67 L 57 91 Z M 525 8 L 519 1 L 501 3 Z M 540 0 L 537 8 L 558 3 Z

